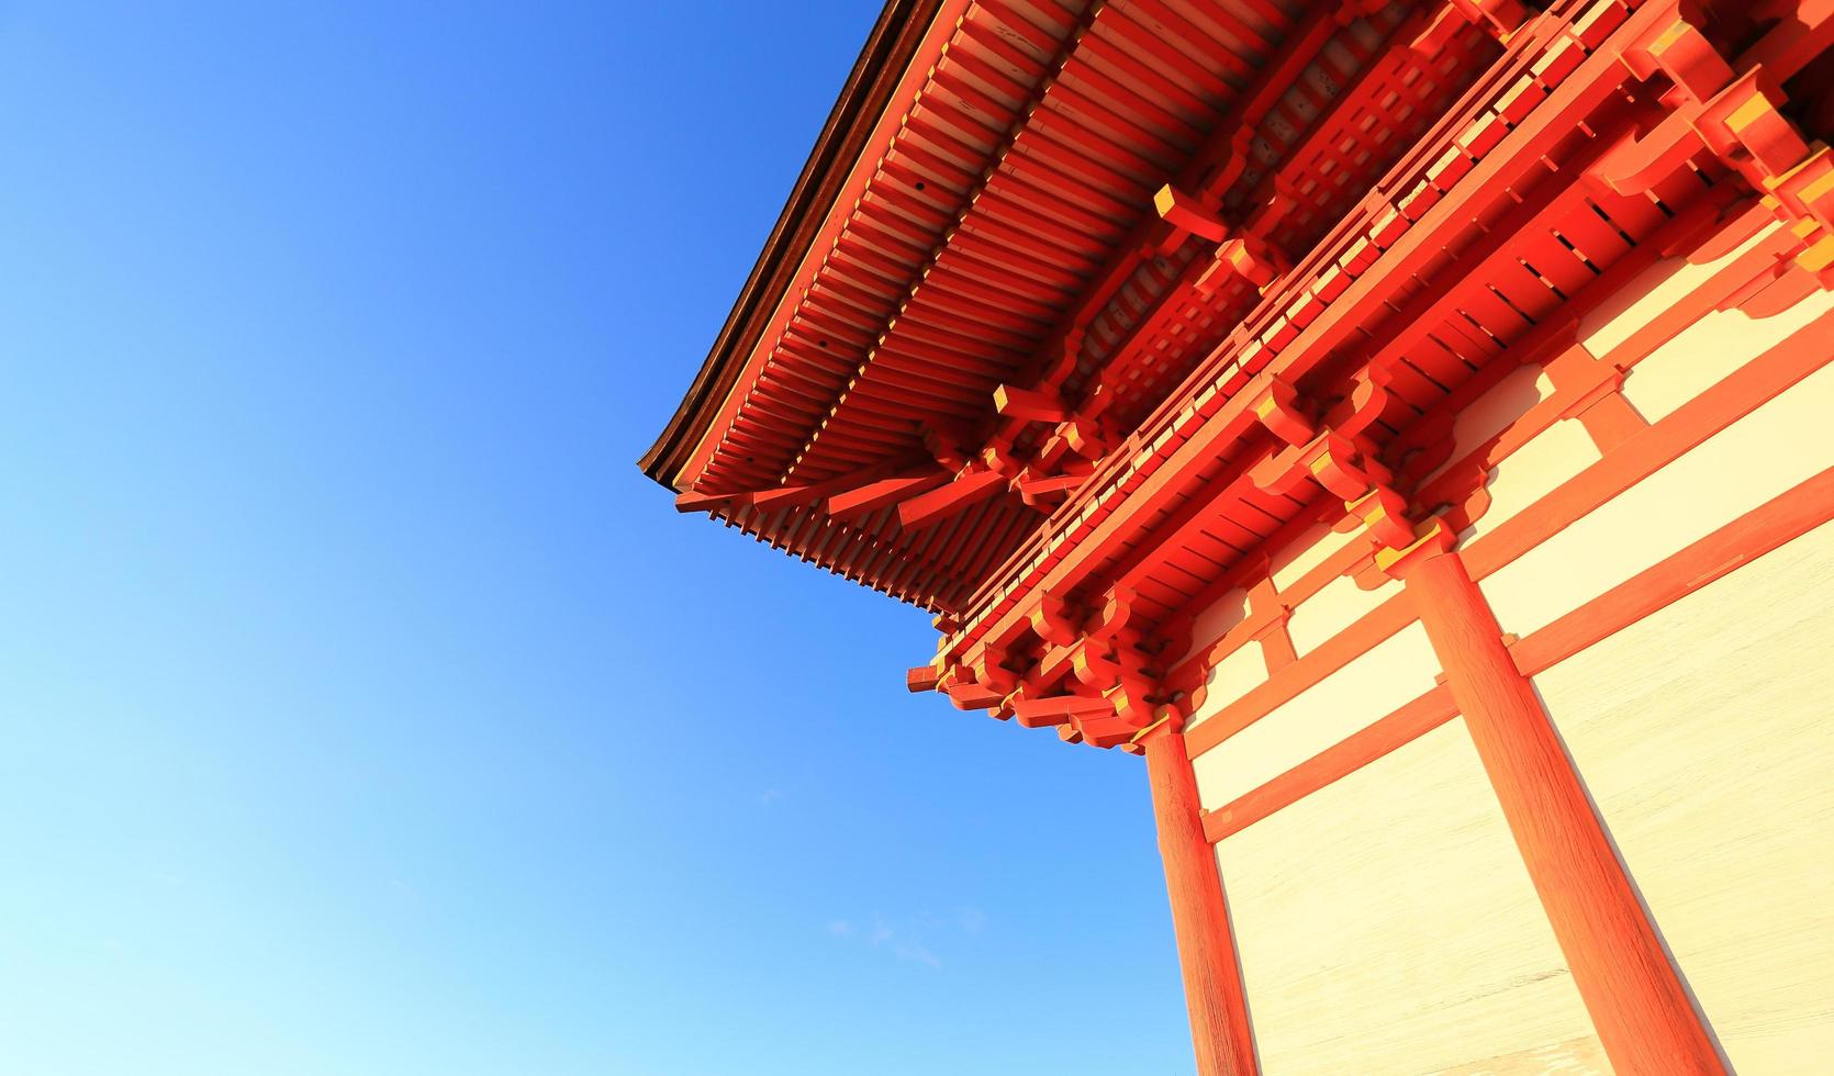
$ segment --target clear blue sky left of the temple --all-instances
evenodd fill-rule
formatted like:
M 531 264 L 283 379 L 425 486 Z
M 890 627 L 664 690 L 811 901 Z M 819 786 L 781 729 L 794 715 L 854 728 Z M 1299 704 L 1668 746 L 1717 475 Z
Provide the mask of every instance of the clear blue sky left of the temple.
M 0 1071 L 1190 1071 L 1139 763 L 633 466 L 873 16 L 0 9 Z

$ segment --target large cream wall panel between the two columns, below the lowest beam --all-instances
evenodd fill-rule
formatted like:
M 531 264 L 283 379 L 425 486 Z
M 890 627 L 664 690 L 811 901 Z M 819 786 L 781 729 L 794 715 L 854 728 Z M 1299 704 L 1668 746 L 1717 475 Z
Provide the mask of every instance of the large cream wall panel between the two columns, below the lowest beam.
M 1262 1072 L 1608 1071 L 1464 720 L 1218 865 Z

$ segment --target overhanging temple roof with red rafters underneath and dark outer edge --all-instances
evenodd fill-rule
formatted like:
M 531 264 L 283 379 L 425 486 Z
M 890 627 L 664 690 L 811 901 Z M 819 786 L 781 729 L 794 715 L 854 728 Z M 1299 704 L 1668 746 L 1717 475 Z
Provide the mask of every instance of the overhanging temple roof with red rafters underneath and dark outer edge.
M 1497 55 L 1445 11 L 893 0 L 646 473 L 972 607 Z

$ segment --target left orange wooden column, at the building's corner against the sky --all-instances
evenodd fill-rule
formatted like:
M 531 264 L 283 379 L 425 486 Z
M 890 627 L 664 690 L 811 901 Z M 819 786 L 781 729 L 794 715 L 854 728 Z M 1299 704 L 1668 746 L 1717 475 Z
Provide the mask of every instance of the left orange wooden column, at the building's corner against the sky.
M 1159 823 L 1165 887 L 1172 896 L 1172 931 L 1185 972 L 1190 1038 L 1199 1076 L 1253 1076 L 1254 1047 L 1242 1001 L 1236 942 L 1229 933 L 1216 849 L 1203 838 L 1198 779 L 1185 753 L 1185 735 L 1161 730 L 1146 737 L 1146 779 Z

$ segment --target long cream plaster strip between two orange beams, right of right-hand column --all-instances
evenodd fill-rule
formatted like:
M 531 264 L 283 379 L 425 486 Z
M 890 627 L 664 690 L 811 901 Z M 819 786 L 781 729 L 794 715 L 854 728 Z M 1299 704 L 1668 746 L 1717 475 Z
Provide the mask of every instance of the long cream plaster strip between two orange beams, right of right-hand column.
M 1823 367 L 1484 579 L 1504 631 L 1530 634 L 1834 466 Z

